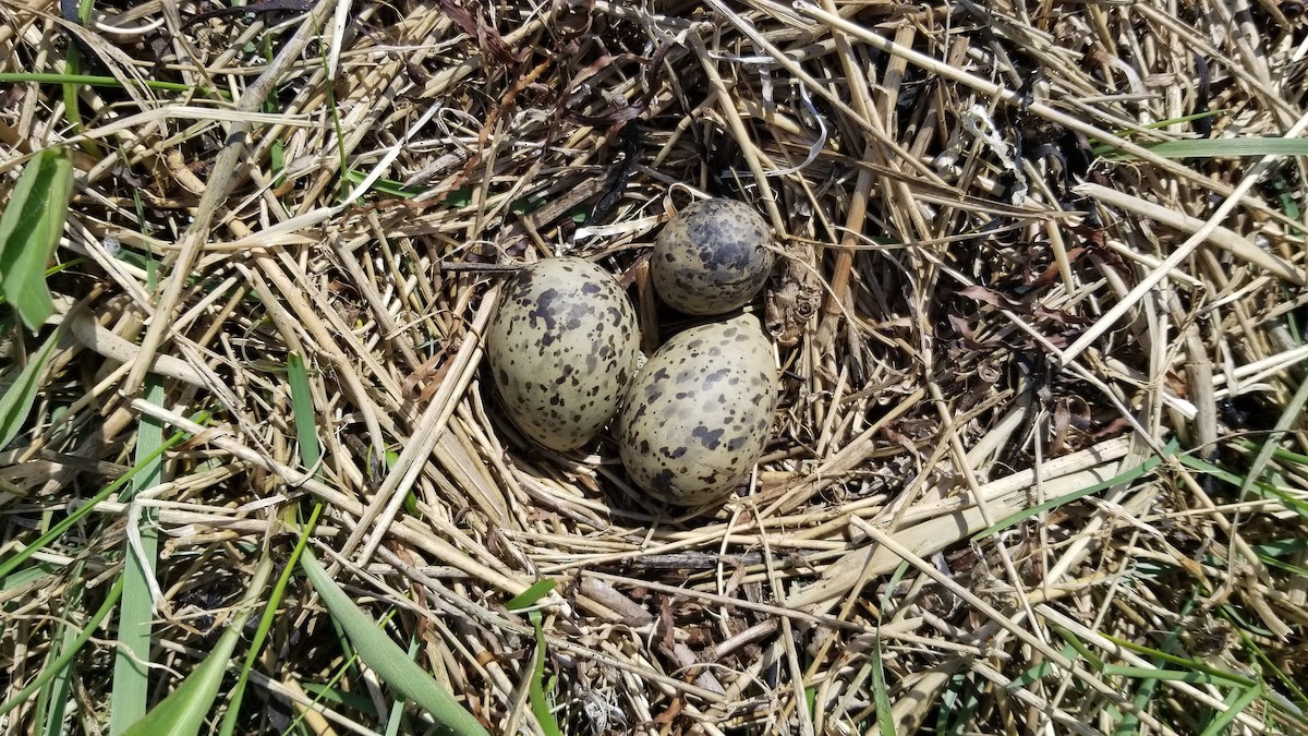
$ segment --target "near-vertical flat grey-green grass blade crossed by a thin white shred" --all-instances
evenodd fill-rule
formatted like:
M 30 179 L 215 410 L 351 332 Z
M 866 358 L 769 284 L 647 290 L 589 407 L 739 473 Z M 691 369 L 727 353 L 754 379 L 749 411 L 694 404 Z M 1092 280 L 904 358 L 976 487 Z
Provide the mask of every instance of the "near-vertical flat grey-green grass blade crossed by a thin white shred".
M 145 382 L 145 401 L 164 403 L 164 384 L 157 376 Z M 119 495 L 129 503 L 141 491 L 164 481 L 164 423 L 141 416 L 136 430 L 136 462 L 141 471 L 131 487 Z M 149 458 L 149 460 L 146 460 Z M 118 609 L 118 648 L 114 651 L 114 689 L 111 694 L 109 733 L 118 736 L 139 722 L 149 706 L 150 639 L 154 621 L 154 564 L 158 559 L 157 515 L 145 508 L 139 517 L 128 515 L 127 540 L 123 542 L 123 605 Z M 133 543 L 135 538 L 139 543 Z

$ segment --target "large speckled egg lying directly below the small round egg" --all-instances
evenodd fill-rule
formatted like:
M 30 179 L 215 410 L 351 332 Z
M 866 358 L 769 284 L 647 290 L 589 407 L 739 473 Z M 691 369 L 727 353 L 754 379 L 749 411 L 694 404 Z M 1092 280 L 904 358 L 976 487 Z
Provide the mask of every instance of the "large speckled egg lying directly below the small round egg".
M 623 399 L 616 439 L 627 473 L 670 503 L 723 499 L 763 456 L 777 381 L 772 344 L 752 314 L 678 334 Z

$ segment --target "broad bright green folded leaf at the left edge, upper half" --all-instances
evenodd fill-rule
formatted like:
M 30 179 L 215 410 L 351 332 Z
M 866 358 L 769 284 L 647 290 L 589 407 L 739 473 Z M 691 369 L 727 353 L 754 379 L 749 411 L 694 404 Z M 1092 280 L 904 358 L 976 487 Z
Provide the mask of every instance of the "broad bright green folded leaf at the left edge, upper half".
M 24 166 L 0 213 L 0 295 L 33 331 L 55 310 L 46 262 L 59 245 L 72 194 L 72 160 L 47 148 Z

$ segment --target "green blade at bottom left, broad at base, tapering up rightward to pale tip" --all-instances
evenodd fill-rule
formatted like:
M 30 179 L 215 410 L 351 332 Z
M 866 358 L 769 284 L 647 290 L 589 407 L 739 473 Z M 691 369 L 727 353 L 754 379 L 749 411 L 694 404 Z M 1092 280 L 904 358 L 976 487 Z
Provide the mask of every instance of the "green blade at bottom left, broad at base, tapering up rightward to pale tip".
M 133 723 L 124 736 L 195 736 L 200 732 L 204 716 L 213 708 L 213 701 L 222 686 L 222 676 L 226 673 L 228 663 L 232 661 L 232 652 L 241 642 L 246 618 L 250 617 L 250 610 L 259 601 L 271 576 L 272 557 L 264 551 L 259 567 L 250 579 L 245 598 L 222 630 L 213 651 L 205 655 L 204 661 L 191 671 L 177 690 L 154 706 L 145 718 Z

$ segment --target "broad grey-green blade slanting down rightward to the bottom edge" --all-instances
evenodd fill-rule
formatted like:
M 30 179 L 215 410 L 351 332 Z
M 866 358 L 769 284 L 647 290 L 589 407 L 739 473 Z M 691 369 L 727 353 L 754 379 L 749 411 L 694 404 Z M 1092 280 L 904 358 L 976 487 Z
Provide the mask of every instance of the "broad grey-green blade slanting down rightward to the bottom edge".
M 395 642 L 381 631 L 354 601 L 340 589 L 327 571 L 318 563 L 313 553 L 305 550 L 300 567 L 309 576 L 310 584 L 322 596 L 332 618 L 340 623 L 358 651 L 364 664 L 373 668 L 378 677 L 419 707 L 426 710 L 446 733 L 456 736 L 487 736 L 485 728 L 464 710 L 453 695 L 428 674 L 413 660 L 404 656 Z

